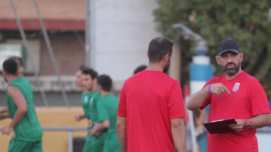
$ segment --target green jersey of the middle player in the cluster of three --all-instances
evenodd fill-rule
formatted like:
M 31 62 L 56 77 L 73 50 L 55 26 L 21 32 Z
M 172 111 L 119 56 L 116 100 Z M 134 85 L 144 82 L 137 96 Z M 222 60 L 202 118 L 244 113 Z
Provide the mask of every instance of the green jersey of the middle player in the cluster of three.
M 98 123 L 98 111 L 97 111 L 97 102 L 101 99 L 101 95 L 99 94 L 98 90 L 95 90 L 93 94 L 91 95 L 90 101 L 89 101 L 89 114 L 90 119 L 92 123 L 94 122 Z M 93 126 L 92 126 L 93 127 Z

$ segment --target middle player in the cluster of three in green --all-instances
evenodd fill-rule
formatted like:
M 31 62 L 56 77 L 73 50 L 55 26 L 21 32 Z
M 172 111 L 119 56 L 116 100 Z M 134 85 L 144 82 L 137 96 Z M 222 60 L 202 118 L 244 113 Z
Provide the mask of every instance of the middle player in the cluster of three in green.
M 83 69 L 83 86 L 91 92 L 91 98 L 89 101 L 89 127 L 93 127 L 93 123 L 99 121 L 97 112 L 97 102 L 101 98 L 101 95 L 97 91 L 97 76 L 98 73 L 91 68 Z M 94 152 L 102 152 L 104 144 L 104 131 L 97 136 L 90 136 L 91 142 L 88 144 L 90 150 Z M 83 149 L 85 152 L 85 148 Z

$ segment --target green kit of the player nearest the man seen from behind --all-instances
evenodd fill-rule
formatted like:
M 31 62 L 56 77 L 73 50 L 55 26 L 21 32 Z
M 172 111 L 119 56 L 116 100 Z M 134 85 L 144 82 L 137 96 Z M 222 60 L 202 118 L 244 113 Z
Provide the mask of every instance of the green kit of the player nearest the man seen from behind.
M 117 111 L 119 99 L 112 94 L 105 95 L 97 103 L 99 122 L 109 120 L 110 126 L 107 129 L 107 136 L 103 152 L 120 152 L 119 141 L 116 133 Z

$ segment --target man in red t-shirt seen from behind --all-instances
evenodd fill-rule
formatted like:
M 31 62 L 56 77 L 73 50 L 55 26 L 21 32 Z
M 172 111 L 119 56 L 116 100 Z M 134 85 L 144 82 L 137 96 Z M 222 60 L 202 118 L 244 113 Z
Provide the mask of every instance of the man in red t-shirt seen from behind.
M 186 152 L 180 84 L 165 74 L 172 45 L 167 38 L 154 38 L 148 48 L 147 69 L 123 84 L 117 117 L 123 152 L 175 152 L 175 146 Z

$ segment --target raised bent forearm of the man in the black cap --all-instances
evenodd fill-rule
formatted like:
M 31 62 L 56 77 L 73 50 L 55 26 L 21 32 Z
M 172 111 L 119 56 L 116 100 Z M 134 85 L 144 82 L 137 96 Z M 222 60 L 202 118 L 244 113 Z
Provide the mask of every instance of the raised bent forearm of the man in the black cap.
M 194 93 L 193 95 L 191 95 L 190 99 L 188 100 L 188 103 L 186 105 L 187 109 L 188 110 L 195 110 L 195 109 L 201 107 L 204 100 L 208 97 L 208 95 L 209 95 L 208 86 L 206 86 L 202 90 Z

